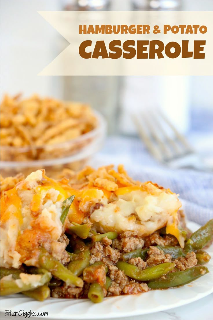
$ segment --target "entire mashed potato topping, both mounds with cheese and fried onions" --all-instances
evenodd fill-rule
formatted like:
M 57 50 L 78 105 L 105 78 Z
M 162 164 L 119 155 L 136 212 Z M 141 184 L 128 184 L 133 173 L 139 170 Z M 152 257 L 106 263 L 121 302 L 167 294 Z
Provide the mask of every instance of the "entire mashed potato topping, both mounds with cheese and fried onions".
M 75 199 L 62 226 L 63 201 L 71 195 Z M 40 246 L 60 260 L 66 244 L 58 240 L 72 222 L 89 222 L 101 233 L 136 231 L 139 237 L 166 226 L 166 233 L 183 247 L 180 206 L 178 195 L 152 182 L 132 180 L 122 165 L 118 172 L 113 166 L 66 172 L 60 181 L 37 170 L 2 193 L 1 266 L 38 266 Z

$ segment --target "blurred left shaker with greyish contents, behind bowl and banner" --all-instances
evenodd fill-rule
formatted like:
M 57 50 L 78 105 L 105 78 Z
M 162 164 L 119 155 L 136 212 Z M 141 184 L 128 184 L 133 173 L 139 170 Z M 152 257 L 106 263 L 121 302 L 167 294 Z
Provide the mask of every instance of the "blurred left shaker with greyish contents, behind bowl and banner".
M 107 11 L 109 0 L 66 0 L 64 10 L 68 11 Z M 108 132 L 116 129 L 118 106 L 117 76 L 65 76 L 64 99 L 82 101 L 100 111 L 108 123 Z

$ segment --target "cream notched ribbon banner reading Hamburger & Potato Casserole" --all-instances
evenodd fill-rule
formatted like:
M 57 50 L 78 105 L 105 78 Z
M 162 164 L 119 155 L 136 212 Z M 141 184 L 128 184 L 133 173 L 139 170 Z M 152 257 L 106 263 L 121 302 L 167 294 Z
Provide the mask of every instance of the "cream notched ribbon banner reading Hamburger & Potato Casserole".
M 41 76 L 213 75 L 213 12 L 39 13 L 70 43 Z

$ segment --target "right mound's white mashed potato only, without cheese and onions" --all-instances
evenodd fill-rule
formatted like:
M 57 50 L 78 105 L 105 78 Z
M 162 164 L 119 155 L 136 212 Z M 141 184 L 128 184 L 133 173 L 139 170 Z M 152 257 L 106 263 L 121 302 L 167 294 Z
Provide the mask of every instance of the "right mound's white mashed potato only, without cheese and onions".
M 177 195 L 151 183 L 147 187 L 147 191 L 129 188 L 127 193 L 118 195 L 118 200 L 95 210 L 90 218 L 96 228 L 101 232 L 113 229 L 119 233 L 137 230 L 138 236 L 148 236 L 164 227 L 181 204 Z

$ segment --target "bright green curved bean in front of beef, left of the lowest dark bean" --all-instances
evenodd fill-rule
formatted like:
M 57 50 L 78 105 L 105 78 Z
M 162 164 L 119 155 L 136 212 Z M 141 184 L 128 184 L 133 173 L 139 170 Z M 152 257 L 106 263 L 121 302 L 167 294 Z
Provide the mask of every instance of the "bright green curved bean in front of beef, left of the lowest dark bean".
M 140 281 L 148 281 L 152 279 L 159 278 L 169 271 L 173 270 L 175 263 L 162 263 L 154 267 L 146 268 L 145 270 L 140 270 L 138 267 L 124 261 L 118 261 L 117 268 L 123 270 L 126 276 Z

